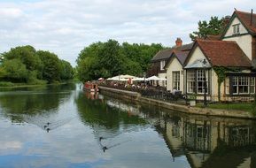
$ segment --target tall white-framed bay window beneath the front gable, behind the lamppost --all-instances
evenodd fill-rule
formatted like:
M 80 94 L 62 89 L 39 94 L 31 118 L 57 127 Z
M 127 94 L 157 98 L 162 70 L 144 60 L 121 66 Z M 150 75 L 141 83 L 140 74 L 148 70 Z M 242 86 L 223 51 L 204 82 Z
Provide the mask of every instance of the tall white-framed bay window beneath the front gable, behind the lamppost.
M 187 92 L 188 93 L 205 93 L 205 70 L 188 70 L 187 71 Z M 206 71 L 206 93 L 208 93 L 208 71 Z

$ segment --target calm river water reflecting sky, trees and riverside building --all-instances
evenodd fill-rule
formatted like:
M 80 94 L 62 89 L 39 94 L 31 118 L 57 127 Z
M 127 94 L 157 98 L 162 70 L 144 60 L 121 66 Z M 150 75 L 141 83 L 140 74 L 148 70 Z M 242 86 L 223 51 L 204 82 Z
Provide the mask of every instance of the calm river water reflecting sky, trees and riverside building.
M 0 167 L 256 167 L 256 122 L 166 111 L 79 85 L 0 91 Z

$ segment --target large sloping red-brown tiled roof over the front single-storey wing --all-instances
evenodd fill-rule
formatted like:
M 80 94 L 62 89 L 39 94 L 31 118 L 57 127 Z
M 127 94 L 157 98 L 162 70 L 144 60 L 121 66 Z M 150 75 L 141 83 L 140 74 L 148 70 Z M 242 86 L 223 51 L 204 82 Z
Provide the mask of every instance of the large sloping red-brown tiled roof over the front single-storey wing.
M 237 42 L 198 40 L 197 43 L 213 66 L 252 66 L 250 59 L 246 57 Z

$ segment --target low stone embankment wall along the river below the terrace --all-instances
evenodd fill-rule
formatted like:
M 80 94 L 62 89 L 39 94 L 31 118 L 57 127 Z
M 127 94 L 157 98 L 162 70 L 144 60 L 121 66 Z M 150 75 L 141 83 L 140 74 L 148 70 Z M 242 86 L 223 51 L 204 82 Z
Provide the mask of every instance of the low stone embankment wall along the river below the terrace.
M 100 92 L 117 96 L 121 99 L 135 101 L 139 103 L 149 103 L 151 105 L 156 105 L 162 108 L 166 108 L 172 111 L 179 111 L 188 114 L 197 114 L 197 115 L 205 115 L 205 116 L 216 116 L 216 117 L 225 117 L 225 118 L 250 118 L 256 119 L 255 116 L 252 115 L 249 111 L 229 111 L 229 110 L 219 110 L 219 109 L 209 109 L 209 108 L 199 108 L 199 107 L 190 107 L 187 105 L 180 105 L 175 103 L 168 103 L 152 98 L 147 98 L 140 95 L 137 92 L 120 90 L 115 88 L 106 88 L 106 87 L 99 87 Z

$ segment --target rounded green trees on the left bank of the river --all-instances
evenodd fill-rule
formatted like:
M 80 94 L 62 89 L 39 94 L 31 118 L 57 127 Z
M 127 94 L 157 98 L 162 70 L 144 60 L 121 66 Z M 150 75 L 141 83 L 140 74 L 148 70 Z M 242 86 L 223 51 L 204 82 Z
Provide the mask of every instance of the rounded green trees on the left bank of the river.
M 73 67 L 49 51 L 36 51 L 32 46 L 21 46 L 1 55 L 0 79 L 26 84 L 44 84 L 70 80 Z

